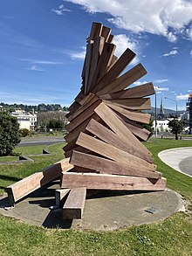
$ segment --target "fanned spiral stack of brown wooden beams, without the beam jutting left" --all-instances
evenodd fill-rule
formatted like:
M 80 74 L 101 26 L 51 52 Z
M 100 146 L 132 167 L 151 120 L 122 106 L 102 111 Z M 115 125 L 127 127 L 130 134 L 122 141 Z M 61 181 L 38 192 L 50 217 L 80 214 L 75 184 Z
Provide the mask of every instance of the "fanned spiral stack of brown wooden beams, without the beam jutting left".
M 65 218 L 81 218 L 85 188 L 165 189 L 165 179 L 142 144 L 149 132 L 141 123 L 149 123 L 150 114 L 141 111 L 150 109 L 147 96 L 154 94 L 154 86 L 146 83 L 129 87 L 147 71 L 138 64 L 121 74 L 135 53 L 127 49 L 118 59 L 115 48 L 111 29 L 93 23 L 87 38 L 82 86 L 67 114 L 70 123 L 64 150 L 74 168 L 61 178 L 61 188 L 72 189 L 64 205 Z

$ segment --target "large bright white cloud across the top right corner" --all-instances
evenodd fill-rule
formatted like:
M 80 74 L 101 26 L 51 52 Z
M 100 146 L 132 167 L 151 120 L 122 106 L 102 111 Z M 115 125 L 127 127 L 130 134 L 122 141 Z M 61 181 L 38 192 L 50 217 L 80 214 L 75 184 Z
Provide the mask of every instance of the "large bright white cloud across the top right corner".
M 106 12 L 108 21 L 128 31 L 162 35 L 175 42 L 192 21 L 192 3 L 186 0 L 65 0 L 77 3 L 87 12 Z M 188 31 L 190 35 L 190 31 Z

